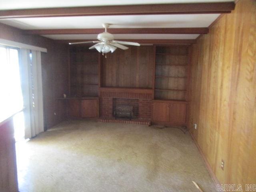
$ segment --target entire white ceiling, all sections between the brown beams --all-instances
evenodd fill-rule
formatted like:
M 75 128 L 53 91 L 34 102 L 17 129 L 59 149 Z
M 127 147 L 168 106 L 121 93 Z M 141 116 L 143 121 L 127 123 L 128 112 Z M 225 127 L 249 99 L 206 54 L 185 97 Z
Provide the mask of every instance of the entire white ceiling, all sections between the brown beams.
M 163 4 L 194 2 L 233 2 L 234 0 L 0 0 L 0 10 L 24 8 L 54 8 L 75 6 L 106 6 L 128 4 Z M 102 28 L 190 28 L 208 27 L 220 14 L 122 15 L 122 16 L 68 16 L 0 19 L 0 23 L 23 30 Z M 102 28 L 102 32 L 103 32 Z M 199 34 L 114 34 L 116 39 L 195 39 Z M 96 39 L 96 34 L 44 35 L 65 39 Z

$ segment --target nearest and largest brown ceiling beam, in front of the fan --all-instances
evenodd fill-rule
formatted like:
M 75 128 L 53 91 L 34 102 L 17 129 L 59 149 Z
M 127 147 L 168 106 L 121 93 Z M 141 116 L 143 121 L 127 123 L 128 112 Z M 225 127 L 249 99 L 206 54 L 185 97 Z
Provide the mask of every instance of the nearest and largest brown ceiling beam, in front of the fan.
M 38 8 L 20 10 L 0 10 L 0 19 L 99 15 L 212 14 L 230 13 L 232 10 L 234 10 L 234 7 L 234 2 L 218 2 Z

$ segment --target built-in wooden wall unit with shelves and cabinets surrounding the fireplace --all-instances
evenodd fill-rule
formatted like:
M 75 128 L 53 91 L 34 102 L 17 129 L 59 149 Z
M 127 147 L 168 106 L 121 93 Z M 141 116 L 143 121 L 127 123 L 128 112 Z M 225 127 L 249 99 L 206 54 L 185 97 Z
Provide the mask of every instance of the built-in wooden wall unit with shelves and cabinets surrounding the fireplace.
M 113 98 L 144 100 L 140 120 L 186 126 L 189 46 L 116 50 L 103 58 L 88 46 L 70 46 L 70 118 L 113 118 Z M 148 99 L 150 98 L 150 101 Z

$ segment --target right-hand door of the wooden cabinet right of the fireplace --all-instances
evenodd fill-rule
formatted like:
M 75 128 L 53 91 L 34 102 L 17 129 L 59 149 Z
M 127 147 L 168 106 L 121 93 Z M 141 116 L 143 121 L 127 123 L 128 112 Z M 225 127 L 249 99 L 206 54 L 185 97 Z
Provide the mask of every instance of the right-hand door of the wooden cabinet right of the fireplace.
M 187 105 L 170 103 L 170 122 L 186 123 Z

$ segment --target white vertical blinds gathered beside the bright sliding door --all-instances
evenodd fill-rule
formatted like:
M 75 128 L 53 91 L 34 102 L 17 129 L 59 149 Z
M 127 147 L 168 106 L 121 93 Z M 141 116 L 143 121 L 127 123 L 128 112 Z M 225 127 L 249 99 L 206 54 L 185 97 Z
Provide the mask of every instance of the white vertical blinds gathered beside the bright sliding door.
M 32 138 L 44 131 L 41 52 L 20 49 L 20 61 L 25 138 Z

